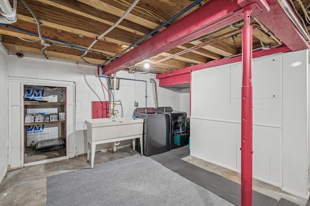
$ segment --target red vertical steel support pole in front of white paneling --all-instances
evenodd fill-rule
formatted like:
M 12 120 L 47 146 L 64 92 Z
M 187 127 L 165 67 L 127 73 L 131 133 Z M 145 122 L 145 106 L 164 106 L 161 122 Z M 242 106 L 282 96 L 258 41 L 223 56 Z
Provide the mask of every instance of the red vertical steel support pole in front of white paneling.
M 246 10 L 242 28 L 241 206 L 252 206 L 252 26 Z

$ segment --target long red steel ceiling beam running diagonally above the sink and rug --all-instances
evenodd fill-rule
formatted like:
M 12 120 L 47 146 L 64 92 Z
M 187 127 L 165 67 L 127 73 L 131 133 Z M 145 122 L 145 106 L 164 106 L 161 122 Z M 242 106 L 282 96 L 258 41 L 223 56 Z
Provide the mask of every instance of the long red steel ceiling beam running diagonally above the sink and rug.
M 121 58 L 106 65 L 106 75 L 116 73 L 142 60 L 184 44 L 207 33 L 223 28 L 243 18 L 243 12 L 252 10 L 252 16 L 269 11 L 266 0 L 212 0 L 186 15 L 167 29 L 144 41 Z

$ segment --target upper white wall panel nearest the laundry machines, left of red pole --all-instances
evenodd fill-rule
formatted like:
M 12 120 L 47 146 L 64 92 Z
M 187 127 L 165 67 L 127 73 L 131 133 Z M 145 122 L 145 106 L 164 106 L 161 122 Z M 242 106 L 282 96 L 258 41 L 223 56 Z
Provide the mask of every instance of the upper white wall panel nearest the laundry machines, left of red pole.
M 236 119 L 229 108 L 229 65 L 192 72 L 191 84 L 191 116 Z

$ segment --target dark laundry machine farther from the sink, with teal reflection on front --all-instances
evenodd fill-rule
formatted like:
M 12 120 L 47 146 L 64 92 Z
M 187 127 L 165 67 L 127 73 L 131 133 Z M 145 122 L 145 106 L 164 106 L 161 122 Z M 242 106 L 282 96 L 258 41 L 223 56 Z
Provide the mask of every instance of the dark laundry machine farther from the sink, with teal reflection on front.
M 157 107 L 157 112 L 170 116 L 170 148 L 175 149 L 188 145 L 186 112 L 173 110 L 170 106 Z

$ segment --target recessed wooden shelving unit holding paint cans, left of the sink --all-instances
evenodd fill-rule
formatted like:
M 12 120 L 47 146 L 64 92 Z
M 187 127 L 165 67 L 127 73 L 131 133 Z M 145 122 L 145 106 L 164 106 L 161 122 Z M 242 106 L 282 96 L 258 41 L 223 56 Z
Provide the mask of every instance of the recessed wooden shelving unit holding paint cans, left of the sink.
M 44 89 L 48 90 L 49 88 L 44 88 Z M 65 88 L 56 88 L 56 90 L 54 90 L 54 89 L 55 88 L 50 88 L 50 90 L 48 90 L 46 92 L 48 92 L 49 94 L 55 95 L 56 98 L 58 97 L 59 102 L 24 101 L 24 114 L 29 113 L 29 110 L 42 111 L 42 112 L 46 112 L 46 114 L 56 113 L 56 112 L 49 112 L 49 111 L 57 111 L 58 114 L 60 112 L 66 112 L 65 111 L 66 110 L 66 107 L 65 107 L 66 106 Z M 54 94 L 54 92 L 55 92 L 55 94 Z M 25 93 L 27 93 L 26 88 L 25 88 Z M 30 113 L 32 113 L 32 112 L 30 112 Z M 35 112 L 33 112 L 33 113 L 35 113 Z M 38 112 L 38 113 L 41 113 L 41 112 Z M 23 122 L 24 122 L 24 147 L 25 147 L 25 160 L 24 160 L 24 162 L 36 162 L 36 161 L 41 161 L 44 159 L 54 158 L 57 155 L 59 155 L 59 156 L 65 156 L 66 155 L 66 148 L 65 147 L 61 148 L 60 150 L 57 150 L 57 149 L 55 149 L 55 151 L 48 151 L 47 150 L 47 152 L 41 153 L 41 152 L 34 152 L 33 145 L 31 145 L 31 142 L 33 140 L 35 141 L 34 142 L 35 144 L 36 143 L 40 143 L 40 144 L 43 143 L 43 145 L 46 145 L 47 142 L 50 144 L 51 142 L 53 142 L 53 139 L 55 140 L 55 136 L 56 136 L 56 138 L 62 138 L 62 140 L 65 144 L 66 143 L 66 120 L 25 123 L 25 119 L 24 119 Z M 44 126 L 42 126 L 42 125 L 44 125 Z M 48 125 L 48 126 L 45 127 L 45 125 Z M 30 126 L 33 126 L 32 127 L 33 135 L 34 136 L 37 135 L 37 136 L 29 137 L 30 134 L 29 134 L 29 131 L 27 131 L 27 129 L 28 130 L 31 129 Z M 53 129 L 54 127 L 58 127 L 58 129 Z M 47 131 L 52 130 L 54 133 L 53 132 L 40 133 L 42 131 L 46 131 L 46 129 L 47 129 Z M 58 134 L 57 134 L 57 131 L 58 131 Z M 38 132 L 38 134 L 36 134 L 34 132 Z M 43 134 L 44 138 L 42 140 L 40 140 L 41 136 L 39 133 Z M 28 135 L 28 138 L 27 138 L 27 135 Z M 33 139 L 31 139 L 31 138 L 33 138 Z M 60 141 L 62 141 L 62 140 L 60 140 Z

